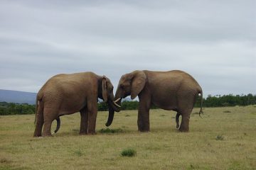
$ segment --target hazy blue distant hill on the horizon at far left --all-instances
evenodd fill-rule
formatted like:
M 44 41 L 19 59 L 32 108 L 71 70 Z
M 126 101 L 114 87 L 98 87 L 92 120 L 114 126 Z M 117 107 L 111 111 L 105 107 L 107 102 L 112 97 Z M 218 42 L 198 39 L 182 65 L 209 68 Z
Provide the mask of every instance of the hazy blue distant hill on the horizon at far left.
M 0 89 L 0 102 L 1 101 L 6 101 L 9 103 L 35 104 L 36 93 Z

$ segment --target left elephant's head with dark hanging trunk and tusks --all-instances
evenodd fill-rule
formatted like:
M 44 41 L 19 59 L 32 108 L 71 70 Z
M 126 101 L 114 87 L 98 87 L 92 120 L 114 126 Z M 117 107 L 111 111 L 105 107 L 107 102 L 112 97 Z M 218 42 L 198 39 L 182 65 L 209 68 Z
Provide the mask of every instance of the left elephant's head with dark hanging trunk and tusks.
M 103 76 L 102 77 L 102 88 L 99 86 L 99 91 L 101 91 L 99 98 L 102 98 L 103 101 L 105 101 L 108 104 L 109 108 L 109 117 L 107 119 L 107 126 L 110 126 L 113 118 L 114 118 L 114 111 L 119 112 L 121 106 L 119 106 L 115 101 L 114 101 L 114 94 L 113 94 L 113 89 L 114 86 L 112 85 L 110 79 L 107 77 Z

